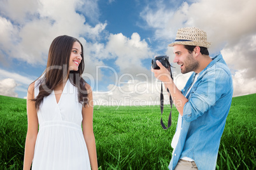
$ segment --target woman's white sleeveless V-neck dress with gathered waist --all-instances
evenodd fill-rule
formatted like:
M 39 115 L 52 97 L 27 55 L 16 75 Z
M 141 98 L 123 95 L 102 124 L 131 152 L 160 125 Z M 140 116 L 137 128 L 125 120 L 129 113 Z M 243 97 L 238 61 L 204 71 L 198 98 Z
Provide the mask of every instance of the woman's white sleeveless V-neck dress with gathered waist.
M 39 86 L 34 95 L 38 96 Z M 38 110 L 39 131 L 34 148 L 33 170 L 90 169 L 87 146 L 82 133 L 82 104 L 78 89 L 69 82 L 59 103 L 54 91 L 43 99 Z

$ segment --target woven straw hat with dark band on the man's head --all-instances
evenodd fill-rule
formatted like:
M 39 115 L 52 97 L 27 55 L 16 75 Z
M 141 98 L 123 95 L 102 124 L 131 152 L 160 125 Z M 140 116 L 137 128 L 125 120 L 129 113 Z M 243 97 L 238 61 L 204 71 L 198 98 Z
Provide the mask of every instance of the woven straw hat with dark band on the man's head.
M 209 48 L 211 42 L 207 42 L 207 34 L 203 30 L 196 27 L 185 27 L 178 29 L 175 42 L 168 46 L 172 47 L 178 44 Z

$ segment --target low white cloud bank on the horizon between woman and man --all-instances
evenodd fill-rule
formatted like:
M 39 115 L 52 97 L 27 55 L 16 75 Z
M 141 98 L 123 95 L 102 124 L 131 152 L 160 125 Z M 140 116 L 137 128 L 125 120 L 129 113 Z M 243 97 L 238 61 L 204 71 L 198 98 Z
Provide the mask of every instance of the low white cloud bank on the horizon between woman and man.
M 106 91 L 94 91 L 95 105 L 159 105 L 160 104 L 160 89 L 161 83 L 153 78 L 153 73 L 150 76 L 138 74 L 144 80 L 138 79 L 136 76 L 129 76 L 128 81 L 122 80 L 121 74 L 117 77 L 115 84 L 109 84 Z M 174 83 L 178 89 L 185 86 L 190 74 L 173 74 Z M 148 77 L 147 77 L 148 76 Z M 169 96 L 163 85 L 164 104 L 169 105 Z

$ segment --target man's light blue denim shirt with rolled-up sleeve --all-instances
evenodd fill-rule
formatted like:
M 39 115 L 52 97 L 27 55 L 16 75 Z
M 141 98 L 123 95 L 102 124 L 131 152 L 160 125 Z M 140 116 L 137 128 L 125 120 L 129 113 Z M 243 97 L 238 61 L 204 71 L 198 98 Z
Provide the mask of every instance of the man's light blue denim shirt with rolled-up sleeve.
M 169 164 L 174 169 L 182 157 L 194 159 L 199 170 L 215 169 L 220 138 L 233 94 L 232 75 L 222 55 L 212 58 L 192 86 L 195 73 L 181 93 L 187 94 L 178 144 Z

